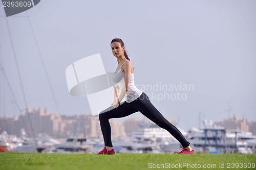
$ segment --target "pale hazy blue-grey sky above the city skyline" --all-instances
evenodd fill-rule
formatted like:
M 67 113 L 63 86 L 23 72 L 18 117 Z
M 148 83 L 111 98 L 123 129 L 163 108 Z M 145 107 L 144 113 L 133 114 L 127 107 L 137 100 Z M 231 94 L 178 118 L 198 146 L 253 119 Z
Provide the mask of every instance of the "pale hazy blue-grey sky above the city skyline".
M 197 127 L 199 111 L 208 120 L 227 118 L 228 101 L 231 116 L 256 120 L 256 1 L 41 0 L 7 21 L 1 6 L 0 15 L 0 62 L 22 109 L 26 105 L 7 21 L 30 108 L 57 113 L 40 52 L 59 114 L 90 114 L 87 98 L 69 94 L 65 70 L 100 53 L 106 72 L 114 72 L 110 42 L 121 38 L 135 67 L 135 84 L 147 86 L 143 91 L 151 102 L 167 119 L 179 119 L 180 128 Z M 3 74 L 0 80 L 0 117 L 18 115 Z M 182 89 L 160 90 L 178 85 Z M 184 88 L 188 85 L 190 90 Z M 186 99 L 178 100 L 178 93 Z M 142 118 L 140 113 L 130 117 Z

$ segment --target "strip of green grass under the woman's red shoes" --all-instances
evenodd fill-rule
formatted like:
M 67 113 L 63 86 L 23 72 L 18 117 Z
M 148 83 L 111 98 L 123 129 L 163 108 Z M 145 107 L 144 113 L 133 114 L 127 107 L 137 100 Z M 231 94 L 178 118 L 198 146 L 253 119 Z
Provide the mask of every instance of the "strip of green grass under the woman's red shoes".
M 152 164 L 150 164 L 152 163 Z M 190 164 L 172 168 L 172 165 Z M 225 168 L 220 167 L 220 164 Z M 231 164 L 234 163 L 234 164 Z M 236 164 L 239 168 L 236 168 Z M 198 169 L 193 166 L 216 165 L 212 168 L 201 169 L 256 169 L 244 167 L 256 163 L 256 155 L 174 155 L 174 154 L 116 154 L 116 155 L 94 155 L 94 154 L 30 154 L 30 153 L 0 153 L 0 169 L 159 169 L 153 168 L 166 165 L 162 169 Z M 169 165 L 170 164 L 170 165 Z M 227 166 L 230 164 L 230 168 Z M 151 168 L 150 168 L 151 167 Z M 233 168 L 232 168 L 233 167 Z

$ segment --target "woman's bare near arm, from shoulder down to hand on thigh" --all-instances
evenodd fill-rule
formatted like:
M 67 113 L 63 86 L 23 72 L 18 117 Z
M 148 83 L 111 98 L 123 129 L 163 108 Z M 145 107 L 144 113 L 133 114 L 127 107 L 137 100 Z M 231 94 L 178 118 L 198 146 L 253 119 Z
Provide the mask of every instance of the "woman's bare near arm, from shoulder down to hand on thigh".
M 132 74 L 132 63 L 130 61 L 125 62 L 123 65 L 124 69 L 124 86 L 120 92 L 119 98 L 116 102 L 114 102 L 111 106 L 117 108 L 120 105 L 120 102 L 123 100 L 126 92 L 129 90 L 130 81 L 131 81 L 131 74 Z

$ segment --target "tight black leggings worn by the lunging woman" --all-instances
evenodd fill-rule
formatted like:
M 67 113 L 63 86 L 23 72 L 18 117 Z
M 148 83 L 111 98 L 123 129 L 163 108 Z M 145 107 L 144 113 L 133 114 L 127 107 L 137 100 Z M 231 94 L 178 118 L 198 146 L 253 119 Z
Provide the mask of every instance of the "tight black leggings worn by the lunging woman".
M 99 114 L 100 127 L 103 134 L 105 147 L 113 147 L 109 119 L 125 117 L 138 111 L 152 120 L 159 127 L 172 134 L 181 143 L 183 148 L 189 146 L 189 142 L 185 139 L 181 132 L 163 117 L 163 115 L 152 105 L 148 96 L 143 92 L 135 101 L 131 103 L 124 102 L 116 109 Z

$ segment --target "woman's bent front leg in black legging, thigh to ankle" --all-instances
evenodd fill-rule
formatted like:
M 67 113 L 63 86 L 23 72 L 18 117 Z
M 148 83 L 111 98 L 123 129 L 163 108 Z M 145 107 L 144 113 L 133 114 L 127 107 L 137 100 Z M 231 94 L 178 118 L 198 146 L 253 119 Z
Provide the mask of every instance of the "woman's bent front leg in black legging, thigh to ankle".
M 126 102 L 124 102 L 121 106 L 117 107 L 116 109 L 112 109 L 110 111 L 99 114 L 100 128 L 104 138 L 105 147 L 113 147 L 111 141 L 111 127 L 109 119 L 125 117 L 135 112 L 137 112 L 137 110 L 135 110 Z

